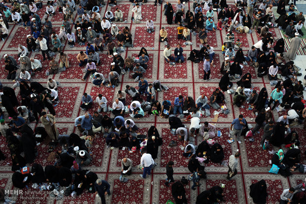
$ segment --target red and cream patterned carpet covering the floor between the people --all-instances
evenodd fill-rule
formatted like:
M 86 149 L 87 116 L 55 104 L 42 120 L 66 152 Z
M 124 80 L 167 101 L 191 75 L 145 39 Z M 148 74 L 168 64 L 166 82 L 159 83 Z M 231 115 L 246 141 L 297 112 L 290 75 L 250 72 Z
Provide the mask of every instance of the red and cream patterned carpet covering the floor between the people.
M 44 6 L 39 10 L 38 15 L 42 18 L 44 16 L 46 1 L 44 0 Z M 176 11 L 176 1 L 170 1 L 173 5 L 174 11 Z M 100 7 L 101 17 L 105 16 L 107 11 L 115 12 L 115 8 L 119 8 L 123 12 L 123 21 L 125 22 L 113 22 L 118 28 L 128 27 L 131 29 L 134 47 L 126 48 L 120 55 L 125 59 L 127 56 L 137 57 L 141 47 L 145 47 L 149 53 L 150 61 L 148 63 L 148 69 L 144 73 L 144 77 L 149 83 L 153 80 L 159 79 L 161 83 L 169 89 L 167 91 L 158 92 L 155 96 L 159 102 L 163 100 L 170 100 L 173 104 L 174 99 L 178 95 L 183 95 L 185 98 L 188 96 L 193 97 L 196 100 L 201 94 L 205 94 L 208 98 L 212 95 L 212 92 L 219 87 L 218 83 L 221 78 L 220 66 L 224 61 L 224 55 L 222 54 L 221 47 L 225 40 L 226 32 L 216 31 L 208 33 L 208 44 L 214 48 L 215 57 L 214 65 L 211 67 L 211 80 L 203 81 L 203 64 L 202 62 L 195 64 L 191 61 L 187 61 L 191 50 L 199 50 L 199 38 L 198 35 L 191 34 L 191 45 L 185 45 L 185 40 L 177 39 L 177 25 L 173 22 L 172 25 L 168 25 L 166 17 L 164 15 L 162 5 L 154 6 L 154 0 L 149 0 L 148 3 L 142 5 L 142 17 L 143 21 L 139 24 L 134 23 L 131 20 L 133 13 L 131 9 L 133 8 L 132 3 L 127 0 L 120 0 L 117 6 L 111 7 L 106 5 Z M 187 2 L 185 4 L 185 12 L 187 10 L 193 10 L 193 2 Z M 233 5 L 233 0 L 228 0 L 229 7 L 234 11 L 236 7 Z M 53 31 L 59 32 L 59 28 L 62 24 L 63 14 L 58 13 L 58 6 L 56 8 L 56 15 L 50 16 L 49 20 L 53 24 Z M 205 13 L 206 11 L 203 11 Z M 76 12 L 75 12 L 76 14 Z M 146 32 L 146 21 L 151 19 L 154 23 L 155 32 Z M 75 17 L 75 22 L 78 19 Z M 214 17 L 215 24 L 217 23 L 217 13 L 215 12 Z M 72 32 L 75 32 L 74 25 L 71 24 Z M 173 51 L 178 43 L 184 49 L 185 62 L 182 64 L 176 64 L 171 66 L 165 62 L 163 57 L 163 50 L 165 48 L 163 43 L 159 43 L 159 30 L 164 27 L 168 32 L 168 43 L 172 47 Z M 13 86 L 11 80 L 6 79 L 6 72 L 4 71 L 4 54 L 9 54 L 13 56 L 16 60 L 18 59 L 18 45 L 26 45 L 26 35 L 30 34 L 30 29 L 25 29 L 23 26 L 17 26 L 10 24 L 9 37 L 4 41 L 0 41 L 0 80 L 3 86 Z M 278 29 L 271 29 L 275 39 L 279 38 L 280 32 Z M 260 39 L 259 35 L 255 32 L 252 34 L 235 34 L 236 39 L 239 38 L 242 43 L 242 49 L 244 53 L 250 49 L 250 47 Z M 138 88 L 138 82 L 134 82 L 132 78 L 132 70 L 127 72 L 125 75 L 120 75 L 120 84 L 115 88 L 107 87 L 97 87 L 91 83 L 90 78 L 86 81 L 81 81 L 80 79 L 84 76 L 82 68 L 78 66 L 76 61 L 76 56 L 80 51 L 85 51 L 85 46 L 77 45 L 74 48 L 70 48 L 67 41 L 62 41 L 65 44 L 64 52 L 68 54 L 70 58 L 70 67 L 63 72 L 55 75 L 46 76 L 45 71 L 48 69 L 49 61 L 42 61 L 42 55 L 40 52 L 31 52 L 30 57 L 36 58 L 42 63 L 42 70 L 37 72 L 33 76 L 33 81 L 40 82 L 42 85 L 46 86 L 48 78 L 53 78 L 60 82 L 58 88 L 58 94 L 60 102 L 55 107 L 57 127 L 60 134 L 79 134 L 79 131 L 75 128 L 74 122 L 75 118 L 79 115 L 83 115 L 85 111 L 80 110 L 79 106 L 81 104 L 81 96 L 84 92 L 91 95 L 94 100 L 92 108 L 88 110 L 89 113 L 93 114 L 97 110 L 98 104 L 95 102 L 96 97 L 99 94 L 105 96 L 108 100 L 108 106 L 112 106 L 116 98 L 116 93 L 121 90 L 125 90 L 126 85 Z M 108 73 L 113 62 L 113 58 L 109 58 L 106 51 L 99 52 L 100 60 L 102 64 L 97 66 L 97 71 L 103 73 L 107 78 Z M 59 59 L 59 55 L 56 55 L 56 60 Z M 263 87 L 266 87 L 268 94 L 271 93 L 272 88 L 269 85 L 269 80 L 267 77 L 259 78 L 257 77 L 257 71 L 246 65 L 243 68 L 243 74 L 250 72 L 252 75 L 252 85 L 255 90 L 260 91 Z M 237 79 L 235 80 L 235 82 Z M 235 84 L 235 83 L 234 83 Z M 15 88 L 15 93 L 19 95 L 19 87 Z M 17 97 L 20 100 L 20 96 Z M 142 95 L 141 98 L 146 100 L 146 96 Z M 257 134 L 254 142 L 250 142 L 248 139 L 242 140 L 241 144 L 234 141 L 229 143 L 229 127 L 230 123 L 234 118 L 237 118 L 239 114 L 243 114 L 247 122 L 254 126 L 255 125 L 255 114 L 252 110 L 248 110 L 248 104 L 245 103 L 245 108 L 238 108 L 232 106 L 233 96 L 225 93 L 226 106 L 229 108 L 229 114 L 225 115 L 223 113 L 219 114 L 218 121 L 213 122 L 214 119 L 214 109 L 211 108 L 211 115 L 208 117 L 201 117 L 201 123 L 205 121 L 211 122 L 216 125 L 217 131 L 221 131 L 221 137 L 215 137 L 216 142 L 222 145 L 225 154 L 225 161 L 228 162 L 229 156 L 239 149 L 241 157 L 238 164 L 238 174 L 234 176 L 231 180 L 227 180 L 227 166 L 220 164 L 215 164 L 209 162 L 205 164 L 205 171 L 207 172 L 207 179 L 201 180 L 201 186 L 196 190 L 191 190 L 192 181 L 185 185 L 186 197 L 189 204 L 194 204 L 196 197 L 202 191 L 210 189 L 213 186 L 224 184 L 224 199 L 226 202 L 224 204 L 253 204 L 252 199 L 249 197 L 250 188 L 252 183 L 255 183 L 261 179 L 265 179 L 268 186 L 268 199 L 267 202 L 270 204 L 277 204 L 279 202 L 279 196 L 283 189 L 289 188 L 291 186 L 296 186 L 301 183 L 305 176 L 303 174 L 295 172 L 292 176 L 284 178 L 281 175 L 275 175 L 268 173 L 270 169 L 269 160 L 272 155 L 268 151 L 264 151 L 260 148 L 260 139 L 263 134 L 263 129 L 261 129 L 259 134 Z M 126 97 L 126 104 L 129 105 L 132 102 L 130 96 Z M 224 105 L 224 104 L 222 104 Z M 276 120 L 282 113 L 273 112 L 273 119 Z M 114 117 L 112 113 L 107 113 L 110 117 Z M 6 115 L 7 116 L 7 115 Z M 129 114 L 125 114 L 126 118 L 129 118 Z M 6 118 L 5 118 L 6 119 Z M 157 166 L 152 171 L 147 179 L 141 179 L 139 174 L 142 173 L 141 170 L 137 169 L 137 165 L 140 164 L 141 154 L 137 152 L 130 153 L 127 149 L 119 150 L 118 148 L 111 149 L 107 148 L 105 143 L 105 138 L 98 134 L 94 139 L 92 148 L 90 151 L 93 152 L 93 161 L 87 167 L 86 170 L 94 171 L 98 174 L 99 178 L 107 180 L 111 185 L 111 195 L 106 196 L 107 204 L 165 204 L 168 200 L 174 202 L 171 194 L 171 187 L 166 187 L 164 182 L 166 178 L 166 165 L 169 161 L 174 161 L 174 178 L 175 180 L 181 180 L 182 176 L 188 177 L 190 171 L 188 170 L 188 159 L 182 156 L 183 151 L 181 150 L 181 145 L 183 141 L 178 141 L 176 147 L 168 146 L 171 140 L 177 140 L 177 136 L 173 136 L 169 130 L 168 120 L 160 117 L 155 117 L 153 115 L 146 114 L 144 118 L 134 120 L 136 125 L 139 127 L 138 133 L 146 135 L 148 129 L 151 126 L 155 126 L 162 137 L 163 144 L 159 147 L 157 159 L 155 162 Z M 187 127 L 190 126 L 190 122 L 184 122 Z M 30 127 L 35 129 L 38 126 L 42 126 L 39 122 L 38 125 L 31 123 Z M 302 126 L 293 127 L 299 134 L 301 141 L 300 149 L 302 152 L 306 150 L 306 131 L 301 129 Z M 41 142 L 38 145 L 38 157 L 35 159 L 34 163 L 41 164 L 42 166 L 52 165 L 54 161 L 47 161 L 48 158 L 48 142 Z M 195 144 L 202 142 L 202 138 L 199 136 Z M 7 157 L 5 160 L 0 161 L 0 187 L 5 190 L 15 190 L 11 181 L 12 171 L 11 171 L 11 159 L 10 152 L 7 147 L 4 137 L 0 137 L 0 149 Z M 56 150 L 60 147 L 57 146 Z M 274 149 L 276 150 L 276 149 Z M 122 183 L 119 181 L 119 176 L 121 172 L 121 159 L 128 157 L 133 161 L 132 174 L 127 176 L 128 182 Z M 34 163 L 30 164 L 33 165 Z M 302 163 L 306 163 L 305 155 L 302 156 Z M 32 185 L 32 184 L 31 184 Z M 38 191 L 33 189 L 29 185 L 29 189 L 23 189 L 24 191 L 33 192 Z M 170 186 L 172 183 L 170 184 Z M 50 200 L 47 194 L 32 195 L 31 198 L 25 198 L 18 196 L 16 204 L 98 204 L 100 199 L 95 197 L 94 194 L 84 191 L 83 194 L 65 200 Z M 39 198 L 43 198 L 40 200 Z M 39 200 L 34 200 L 34 198 Z M 49 199 L 47 199 L 49 198 Z

